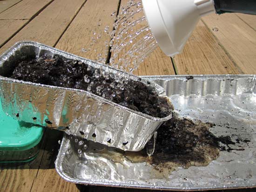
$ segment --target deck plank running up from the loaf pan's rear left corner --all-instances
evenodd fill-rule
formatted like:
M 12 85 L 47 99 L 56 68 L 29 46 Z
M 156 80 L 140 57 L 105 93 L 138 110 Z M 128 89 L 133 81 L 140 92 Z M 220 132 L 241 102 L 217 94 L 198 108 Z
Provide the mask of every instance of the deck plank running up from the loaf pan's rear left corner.
M 3 53 L 17 41 L 32 40 L 54 46 L 85 0 L 55 0 L 0 49 Z

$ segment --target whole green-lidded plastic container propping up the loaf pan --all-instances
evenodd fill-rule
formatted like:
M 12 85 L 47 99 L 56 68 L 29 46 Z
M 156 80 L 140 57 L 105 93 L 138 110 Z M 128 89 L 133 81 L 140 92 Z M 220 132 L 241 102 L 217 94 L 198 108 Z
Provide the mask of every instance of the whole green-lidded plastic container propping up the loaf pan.
M 33 160 L 39 152 L 43 132 L 43 127 L 7 116 L 0 102 L 0 163 Z

